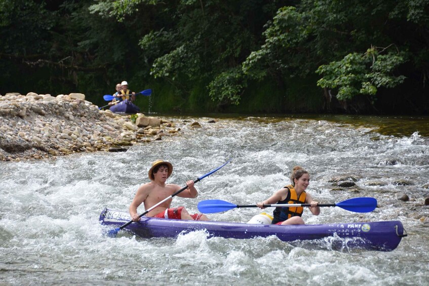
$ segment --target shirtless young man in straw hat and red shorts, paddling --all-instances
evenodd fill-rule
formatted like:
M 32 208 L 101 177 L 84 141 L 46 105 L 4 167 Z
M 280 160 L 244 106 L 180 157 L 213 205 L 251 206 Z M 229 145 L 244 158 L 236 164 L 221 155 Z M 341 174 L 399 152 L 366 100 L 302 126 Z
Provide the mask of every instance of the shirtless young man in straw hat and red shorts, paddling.
M 156 160 L 152 163 L 149 169 L 149 179 L 151 182 L 141 185 L 137 189 L 137 193 L 130 205 L 130 216 L 133 221 L 139 221 L 137 208 L 144 203 L 144 209 L 148 210 L 166 197 L 169 197 L 181 187 L 175 184 L 166 184 L 167 179 L 173 172 L 173 165 L 170 162 Z M 197 189 L 193 186 L 193 181 L 186 182 L 187 189 L 178 193 L 177 196 L 195 198 L 198 196 Z M 147 217 L 166 218 L 166 219 L 182 219 L 182 220 L 209 220 L 206 215 L 193 214 L 190 215 L 184 207 L 170 208 L 171 199 L 165 201 L 157 208 L 146 214 Z

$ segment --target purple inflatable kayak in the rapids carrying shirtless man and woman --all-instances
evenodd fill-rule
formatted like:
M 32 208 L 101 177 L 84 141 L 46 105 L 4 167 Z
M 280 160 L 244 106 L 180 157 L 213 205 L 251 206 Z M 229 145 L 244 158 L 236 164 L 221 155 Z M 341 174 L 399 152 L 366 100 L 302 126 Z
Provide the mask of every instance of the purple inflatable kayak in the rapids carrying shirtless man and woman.
M 128 212 L 104 209 L 100 214 L 103 225 L 119 227 L 130 221 Z M 124 230 L 141 237 L 177 237 L 180 233 L 205 230 L 210 236 L 248 239 L 276 235 L 283 241 L 316 240 L 333 237 L 340 248 L 392 251 L 401 238 L 407 236 L 400 221 L 306 224 L 306 225 L 262 225 L 216 221 L 185 221 L 142 217 Z

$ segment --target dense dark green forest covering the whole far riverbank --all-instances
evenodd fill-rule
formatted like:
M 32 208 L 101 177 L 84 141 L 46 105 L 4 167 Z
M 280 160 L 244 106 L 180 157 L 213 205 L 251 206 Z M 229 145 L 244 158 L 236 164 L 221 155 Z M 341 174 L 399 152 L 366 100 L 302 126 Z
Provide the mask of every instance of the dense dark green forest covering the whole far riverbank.
M 101 106 L 127 80 L 154 112 L 427 114 L 428 15 L 427 0 L 5 0 L 0 94 Z

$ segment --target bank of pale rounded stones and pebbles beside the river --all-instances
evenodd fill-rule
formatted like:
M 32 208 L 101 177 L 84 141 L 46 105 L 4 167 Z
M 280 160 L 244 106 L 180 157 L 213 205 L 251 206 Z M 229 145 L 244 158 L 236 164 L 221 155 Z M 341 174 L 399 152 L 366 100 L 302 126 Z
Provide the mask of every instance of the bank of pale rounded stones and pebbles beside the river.
M 198 124 L 197 124 L 198 126 Z M 81 93 L 0 95 L 0 160 L 42 159 L 124 146 L 177 134 L 174 122 L 99 110 Z

